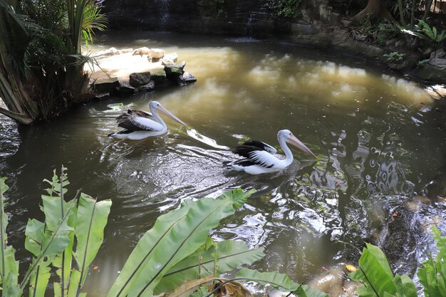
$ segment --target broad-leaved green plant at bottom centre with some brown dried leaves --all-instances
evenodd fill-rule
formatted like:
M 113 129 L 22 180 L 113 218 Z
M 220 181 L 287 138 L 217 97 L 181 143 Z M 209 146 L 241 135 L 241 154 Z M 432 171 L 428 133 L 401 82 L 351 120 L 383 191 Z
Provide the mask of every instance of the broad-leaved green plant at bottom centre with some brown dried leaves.
M 208 236 L 209 231 L 221 219 L 234 214 L 252 192 L 236 189 L 217 199 L 188 201 L 180 209 L 159 217 L 152 229 L 138 241 L 108 297 L 152 296 L 169 292 L 171 296 L 179 296 L 214 280 L 219 280 L 219 284 L 207 293 L 208 296 L 237 280 L 269 283 L 274 288 L 294 291 L 298 296 L 327 296 L 276 272 L 242 269 L 233 279 L 219 277 L 240 264 L 251 264 L 264 256 L 262 248 L 249 250 L 242 241 L 215 242 Z

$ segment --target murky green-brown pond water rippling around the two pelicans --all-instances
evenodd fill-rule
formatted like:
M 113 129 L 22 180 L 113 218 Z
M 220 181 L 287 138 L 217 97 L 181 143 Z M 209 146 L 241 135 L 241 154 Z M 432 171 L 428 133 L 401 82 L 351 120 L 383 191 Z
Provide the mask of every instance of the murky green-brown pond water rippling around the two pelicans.
M 389 241 L 395 209 L 425 194 L 426 186 L 446 173 L 444 113 L 425 90 L 382 68 L 250 38 L 117 33 L 100 36 L 98 44 L 94 51 L 147 46 L 176 52 L 197 83 L 88 103 L 33 127 L 0 117 L 0 174 L 9 177 L 10 186 L 9 236 L 22 261 L 28 255 L 26 221 L 42 218 L 42 180 L 54 168 L 68 167 L 72 196 L 82 188 L 113 200 L 105 241 L 93 263 L 98 269 L 90 271 L 86 283 L 89 296 L 104 296 L 140 236 L 160 214 L 187 199 L 216 197 L 237 187 L 257 189 L 213 232 L 214 238 L 265 246 L 266 256 L 256 268 L 305 281 L 323 267 L 356 261 L 353 246 Z M 107 137 L 118 130 L 115 116 L 121 113 L 108 105 L 148 110 L 150 100 L 160 101 L 190 127 L 166 120 L 170 132 L 163 137 Z M 192 129 L 217 145 L 191 137 Z M 224 147 L 247 138 L 279 147 L 281 129 L 294 132 L 318 160 L 292 149 L 297 160 L 289 168 L 258 176 L 222 164 L 234 160 Z M 425 222 L 425 214 L 442 222 L 445 202 L 429 201 L 408 222 L 413 217 Z M 429 241 L 420 224 L 411 224 L 397 228 L 401 244 L 393 247 L 404 251 L 396 268 L 409 273 Z

